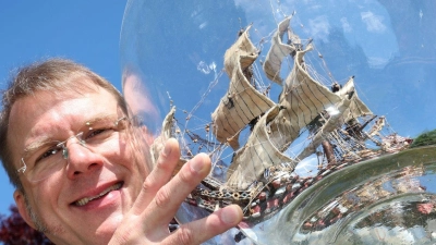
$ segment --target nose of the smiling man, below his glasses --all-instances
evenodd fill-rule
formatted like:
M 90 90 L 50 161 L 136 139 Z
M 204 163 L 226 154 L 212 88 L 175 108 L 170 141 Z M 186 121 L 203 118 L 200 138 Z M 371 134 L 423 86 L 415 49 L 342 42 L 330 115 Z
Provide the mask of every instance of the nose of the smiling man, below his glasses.
M 101 168 L 102 157 L 93 147 L 75 138 L 70 140 L 65 147 L 68 150 L 66 175 L 69 179 L 75 179 Z

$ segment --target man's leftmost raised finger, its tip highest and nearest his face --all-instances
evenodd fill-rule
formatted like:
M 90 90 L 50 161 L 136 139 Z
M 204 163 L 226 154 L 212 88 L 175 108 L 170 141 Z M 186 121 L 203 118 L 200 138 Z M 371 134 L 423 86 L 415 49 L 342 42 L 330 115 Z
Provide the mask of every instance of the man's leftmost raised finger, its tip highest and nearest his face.
M 157 164 L 152 173 L 146 177 L 143 189 L 140 193 L 132 211 L 134 215 L 140 215 L 155 198 L 156 193 L 168 183 L 171 179 L 171 173 L 175 168 L 180 158 L 179 143 L 174 138 L 166 142 L 164 150 L 159 155 Z

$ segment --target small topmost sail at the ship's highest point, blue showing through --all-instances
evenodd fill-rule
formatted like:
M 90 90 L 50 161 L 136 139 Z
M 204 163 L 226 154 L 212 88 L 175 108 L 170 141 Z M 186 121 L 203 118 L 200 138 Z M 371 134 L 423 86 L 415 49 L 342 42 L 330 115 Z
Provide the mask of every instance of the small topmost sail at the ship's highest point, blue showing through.
M 280 77 L 280 68 L 283 58 L 288 57 L 291 53 L 295 53 L 296 50 L 301 49 L 301 40 L 299 36 L 294 35 L 289 26 L 291 19 L 292 15 L 286 17 L 278 25 L 278 29 L 274 34 L 271 40 L 271 47 L 266 54 L 266 59 L 264 62 L 264 72 L 266 76 L 270 81 L 280 85 L 283 81 Z M 288 32 L 288 44 L 282 42 L 286 32 Z

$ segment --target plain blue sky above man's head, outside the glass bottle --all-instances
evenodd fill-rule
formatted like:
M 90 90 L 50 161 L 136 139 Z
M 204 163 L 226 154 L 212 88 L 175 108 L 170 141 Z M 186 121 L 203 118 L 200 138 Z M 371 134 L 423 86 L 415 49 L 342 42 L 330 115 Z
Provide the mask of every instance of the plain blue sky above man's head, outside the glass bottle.
M 83 63 L 120 88 L 119 40 L 124 0 L 0 1 L 0 88 L 10 71 L 48 57 Z M 0 213 L 13 204 L 0 169 Z

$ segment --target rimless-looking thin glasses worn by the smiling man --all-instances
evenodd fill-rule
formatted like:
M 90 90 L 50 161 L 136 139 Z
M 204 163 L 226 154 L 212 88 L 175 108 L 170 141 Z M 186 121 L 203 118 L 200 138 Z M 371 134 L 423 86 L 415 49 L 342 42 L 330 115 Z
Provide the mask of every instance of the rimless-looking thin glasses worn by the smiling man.
M 39 182 L 62 169 L 69 160 L 68 144 L 80 144 L 93 152 L 105 149 L 106 144 L 117 140 L 120 132 L 126 128 L 126 117 L 113 120 L 114 117 L 102 117 L 85 123 L 84 131 L 63 142 L 50 140 L 25 150 L 21 159 L 24 174 L 29 182 Z M 73 139 L 76 139 L 73 142 Z

